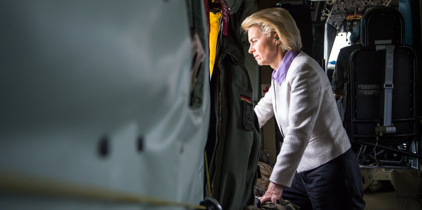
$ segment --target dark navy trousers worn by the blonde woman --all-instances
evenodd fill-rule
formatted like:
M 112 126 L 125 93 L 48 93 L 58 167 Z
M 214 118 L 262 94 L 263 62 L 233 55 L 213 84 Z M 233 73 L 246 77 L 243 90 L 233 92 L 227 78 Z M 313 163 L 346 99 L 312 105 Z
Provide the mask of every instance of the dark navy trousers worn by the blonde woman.
M 292 186 L 283 186 L 282 197 L 300 210 L 363 209 L 362 176 L 356 155 L 349 149 L 318 168 L 296 173 Z

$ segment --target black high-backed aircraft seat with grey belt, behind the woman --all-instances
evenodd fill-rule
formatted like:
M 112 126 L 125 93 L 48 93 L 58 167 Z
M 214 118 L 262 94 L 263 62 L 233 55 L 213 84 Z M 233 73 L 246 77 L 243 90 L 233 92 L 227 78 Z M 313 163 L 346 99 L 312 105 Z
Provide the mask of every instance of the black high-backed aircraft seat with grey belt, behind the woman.
M 349 138 L 354 145 L 385 147 L 384 151 L 408 157 L 408 153 L 416 151 L 416 55 L 404 46 L 400 12 L 391 7 L 367 11 L 361 20 L 361 42 L 362 47 L 349 58 L 344 121 Z M 365 163 L 379 158 L 406 164 L 407 160 L 396 160 L 397 155 L 389 152 L 384 152 L 383 157 L 374 155 Z

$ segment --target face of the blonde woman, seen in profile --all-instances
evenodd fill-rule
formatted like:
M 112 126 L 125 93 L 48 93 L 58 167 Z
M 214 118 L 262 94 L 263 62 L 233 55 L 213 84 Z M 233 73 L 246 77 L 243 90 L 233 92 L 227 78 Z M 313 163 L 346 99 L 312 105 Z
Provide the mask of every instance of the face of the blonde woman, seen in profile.
M 271 65 L 276 61 L 277 42 L 275 38 L 269 39 L 257 27 L 251 27 L 248 30 L 248 39 L 251 43 L 248 52 L 254 55 L 258 65 Z

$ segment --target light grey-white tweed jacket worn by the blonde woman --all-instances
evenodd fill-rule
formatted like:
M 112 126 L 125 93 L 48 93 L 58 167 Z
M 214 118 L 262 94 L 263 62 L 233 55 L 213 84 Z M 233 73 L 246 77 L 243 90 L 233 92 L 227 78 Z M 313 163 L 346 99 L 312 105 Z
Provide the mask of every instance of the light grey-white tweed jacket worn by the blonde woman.
M 281 86 L 271 87 L 255 106 L 259 126 L 275 116 L 284 143 L 270 180 L 291 186 L 295 172 L 308 171 L 350 149 L 328 77 L 304 52 L 293 59 Z

